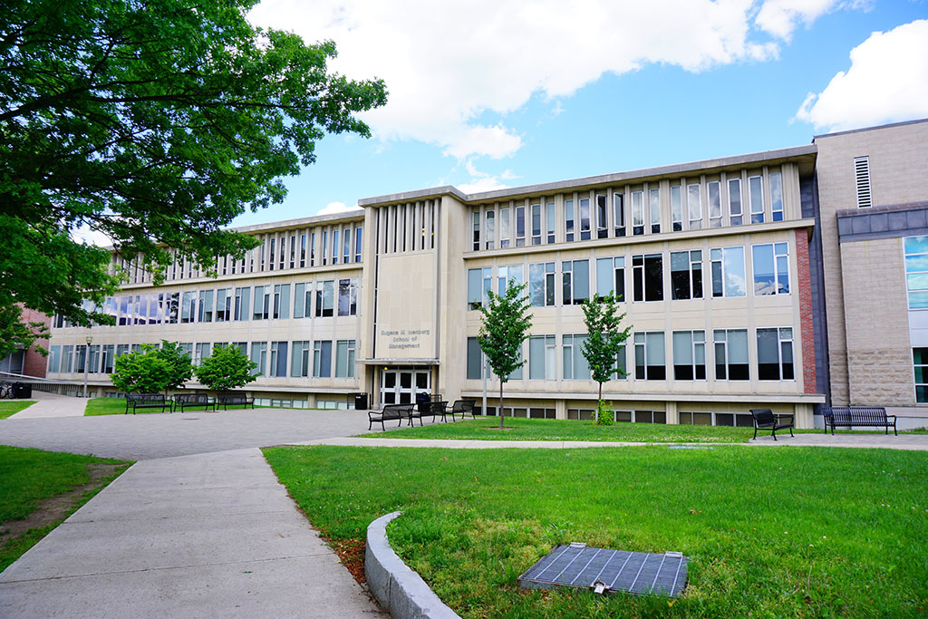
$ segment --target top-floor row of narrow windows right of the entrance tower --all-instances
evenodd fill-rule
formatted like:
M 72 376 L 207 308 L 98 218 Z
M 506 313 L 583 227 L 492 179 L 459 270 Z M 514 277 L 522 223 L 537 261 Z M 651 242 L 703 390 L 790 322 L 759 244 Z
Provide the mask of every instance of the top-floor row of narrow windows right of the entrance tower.
M 765 187 L 769 193 L 768 212 Z M 607 193 L 591 192 L 587 197 L 584 192 L 577 192 L 561 200 L 548 198 L 498 207 L 475 207 L 470 214 L 471 248 L 477 251 L 554 243 L 559 222 L 562 222 L 563 239 L 571 242 L 660 234 L 662 230 L 679 232 L 763 224 L 767 218 L 774 222 L 783 220 L 780 172 L 767 174 L 766 184 L 762 174 L 754 174 L 746 176 L 743 183 L 741 177 L 706 183 L 681 180 L 669 189 L 669 228 L 663 227 L 661 188 L 647 183 L 627 194 L 613 192 L 611 201 Z M 556 214 L 558 211 L 560 217 Z M 626 226 L 627 221 L 630 226 Z

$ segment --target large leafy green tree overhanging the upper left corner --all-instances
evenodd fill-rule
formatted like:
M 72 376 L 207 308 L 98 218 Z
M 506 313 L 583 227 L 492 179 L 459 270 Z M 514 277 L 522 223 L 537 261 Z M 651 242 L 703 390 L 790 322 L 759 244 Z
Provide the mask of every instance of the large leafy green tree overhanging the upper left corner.
M 355 113 L 379 80 L 327 70 L 335 45 L 246 20 L 257 0 L 21 0 L 0 10 L 0 308 L 100 322 L 114 290 L 106 235 L 160 281 L 176 248 L 208 268 L 254 245 L 224 230 L 284 199 L 282 177 L 327 133 L 369 135 Z M 28 344 L 0 312 L 3 347 Z M 16 340 L 16 342 L 13 342 Z

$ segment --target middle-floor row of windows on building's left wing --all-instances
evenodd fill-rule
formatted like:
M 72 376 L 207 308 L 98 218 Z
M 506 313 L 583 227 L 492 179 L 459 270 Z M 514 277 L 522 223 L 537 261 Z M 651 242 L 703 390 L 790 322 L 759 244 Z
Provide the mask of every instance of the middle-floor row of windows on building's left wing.
M 360 286 L 357 277 L 290 284 L 187 290 L 185 292 L 148 292 L 107 297 L 102 312 L 113 317 L 117 325 L 174 325 L 194 322 L 229 322 L 240 320 L 357 316 Z M 337 286 L 337 288 L 336 288 Z M 314 303 L 315 300 L 315 303 Z M 71 327 L 56 316 L 56 328 Z

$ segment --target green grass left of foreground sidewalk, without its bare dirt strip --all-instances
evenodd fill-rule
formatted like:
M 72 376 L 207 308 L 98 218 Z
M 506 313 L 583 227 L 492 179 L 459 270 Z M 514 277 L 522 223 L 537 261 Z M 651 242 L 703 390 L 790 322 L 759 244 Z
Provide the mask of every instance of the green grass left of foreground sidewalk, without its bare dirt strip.
M 0 529 L 4 530 L 8 522 L 29 518 L 44 500 L 67 493 L 75 486 L 89 483 L 91 478 L 88 466 L 97 463 L 119 466 L 112 475 L 97 480 L 92 490 L 76 497 L 70 505 L 64 506 L 60 518 L 7 539 L 0 546 L 0 571 L 19 559 L 22 553 L 32 548 L 131 464 L 121 460 L 0 445 Z

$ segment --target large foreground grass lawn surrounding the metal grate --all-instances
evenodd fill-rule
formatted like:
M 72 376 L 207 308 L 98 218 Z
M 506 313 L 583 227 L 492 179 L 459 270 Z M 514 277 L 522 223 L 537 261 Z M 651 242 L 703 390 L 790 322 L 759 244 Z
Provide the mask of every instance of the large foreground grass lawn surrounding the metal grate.
M 337 548 L 404 510 L 388 530 L 393 548 L 466 617 L 928 612 L 928 458 L 919 452 L 313 446 L 264 454 Z M 672 604 L 518 588 L 522 572 L 572 541 L 681 551 L 689 588 Z

